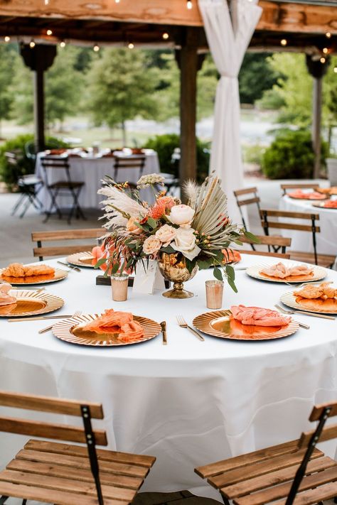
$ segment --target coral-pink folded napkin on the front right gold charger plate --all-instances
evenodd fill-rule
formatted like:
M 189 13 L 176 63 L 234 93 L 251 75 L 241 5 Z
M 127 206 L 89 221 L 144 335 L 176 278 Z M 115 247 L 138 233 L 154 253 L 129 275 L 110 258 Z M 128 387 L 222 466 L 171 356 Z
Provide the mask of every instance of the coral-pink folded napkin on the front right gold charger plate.
M 279 315 L 276 310 L 261 307 L 245 307 L 245 305 L 232 305 L 230 308 L 234 319 L 242 325 L 254 326 L 284 326 L 288 325 L 291 317 Z

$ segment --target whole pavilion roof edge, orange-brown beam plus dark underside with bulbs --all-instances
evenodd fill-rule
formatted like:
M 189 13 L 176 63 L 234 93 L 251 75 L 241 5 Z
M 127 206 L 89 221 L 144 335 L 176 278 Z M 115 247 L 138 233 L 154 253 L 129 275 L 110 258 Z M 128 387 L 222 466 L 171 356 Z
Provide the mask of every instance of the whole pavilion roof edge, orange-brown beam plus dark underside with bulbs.
M 337 52 L 337 0 L 260 0 L 262 17 L 252 38 L 252 50 L 306 50 L 320 53 L 324 47 Z M 200 52 L 207 50 L 203 22 L 193 0 L 0 0 L 0 37 L 25 42 L 176 47 L 186 26 L 198 31 Z M 48 36 L 47 30 L 53 35 Z M 163 33 L 169 38 L 164 40 Z M 326 33 L 332 37 L 327 39 Z M 287 48 L 281 45 L 287 40 Z

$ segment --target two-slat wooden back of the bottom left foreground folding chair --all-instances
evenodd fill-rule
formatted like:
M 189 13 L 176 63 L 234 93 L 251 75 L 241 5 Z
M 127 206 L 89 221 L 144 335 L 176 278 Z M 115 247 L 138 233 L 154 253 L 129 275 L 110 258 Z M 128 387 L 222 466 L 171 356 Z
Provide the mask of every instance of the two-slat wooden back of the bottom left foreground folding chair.
M 103 410 L 100 403 L 87 401 L 60 400 L 45 396 L 33 396 L 21 393 L 0 391 L 0 406 L 21 408 L 40 412 L 65 414 L 67 416 L 82 417 L 83 408 L 87 409 L 90 418 L 102 419 Z M 78 426 L 47 423 L 23 418 L 9 418 L 0 416 L 0 431 L 19 433 L 53 440 L 67 440 L 68 442 L 87 442 L 85 428 Z M 93 432 L 98 445 L 107 445 L 107 435 L 103 430 Z

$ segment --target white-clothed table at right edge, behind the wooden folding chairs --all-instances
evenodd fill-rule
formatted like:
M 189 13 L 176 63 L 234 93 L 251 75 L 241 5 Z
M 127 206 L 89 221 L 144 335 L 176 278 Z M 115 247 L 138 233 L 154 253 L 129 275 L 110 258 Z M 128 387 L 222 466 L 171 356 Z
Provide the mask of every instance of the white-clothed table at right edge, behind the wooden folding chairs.
M 332 197 L 332 200 L 334 198 Z M 317 252 L 337 256 L 337 210 L 320 209 L 314 207 L 312 203 L 309 200 L 295 200 L 285 195 L 279 201 L 279 210 L 319 214 L 319 221 L 316 221 L 316 225 L 321 228 L 321 232 L 316 234 Z M 296 219 L 296 223 L 300 223 L 299 219 Z M 310 224 L 310 222 L 306 221 L 304 224 Z M 287 229 L 282 234 L 291 238 L 291 249 L 293 251 L 314 252 L 311 232 L 297 232 L 296 230 Z

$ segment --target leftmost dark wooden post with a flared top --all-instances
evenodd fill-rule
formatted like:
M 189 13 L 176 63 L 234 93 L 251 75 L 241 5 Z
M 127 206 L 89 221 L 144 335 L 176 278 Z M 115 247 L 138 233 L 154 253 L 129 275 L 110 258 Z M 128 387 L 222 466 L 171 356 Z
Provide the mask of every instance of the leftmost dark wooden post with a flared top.
M 33 70 L 34 128 L 36 151 L 45 148 L 44 72 L 53 65 L 55 45 L 37 44 L 33 48 L 21 45 L 21 56 L 27 67 Z

